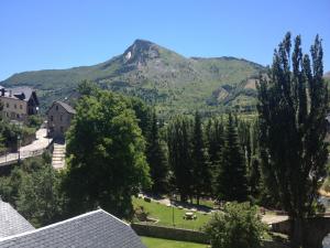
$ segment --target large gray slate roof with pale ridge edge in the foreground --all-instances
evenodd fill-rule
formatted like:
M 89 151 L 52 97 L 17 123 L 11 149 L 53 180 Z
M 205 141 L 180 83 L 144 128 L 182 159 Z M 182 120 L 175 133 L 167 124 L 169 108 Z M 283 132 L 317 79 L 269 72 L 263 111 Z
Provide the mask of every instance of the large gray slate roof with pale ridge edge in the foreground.
M 145 248 L 128 224 L 102 209 L 0 239 L 0 248 L 19 247 Z

